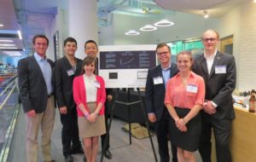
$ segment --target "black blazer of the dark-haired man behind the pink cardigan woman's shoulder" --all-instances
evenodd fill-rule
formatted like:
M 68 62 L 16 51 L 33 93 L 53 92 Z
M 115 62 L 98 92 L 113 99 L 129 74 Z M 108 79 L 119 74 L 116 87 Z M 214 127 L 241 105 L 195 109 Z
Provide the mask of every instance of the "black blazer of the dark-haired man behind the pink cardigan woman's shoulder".
M 55 98 L 58 107 L 66 106 L 67 109 L 76 107 L 75 102 L 73 101 L 73 78 L 80 75 L 83 61 L 78 58 L 75 59 L 77 61 L 76 71 L 70 76 L 68 76 L 67 71 L 72 67 L 67 60 L 67 57 L 64 56 L 55 61 Z

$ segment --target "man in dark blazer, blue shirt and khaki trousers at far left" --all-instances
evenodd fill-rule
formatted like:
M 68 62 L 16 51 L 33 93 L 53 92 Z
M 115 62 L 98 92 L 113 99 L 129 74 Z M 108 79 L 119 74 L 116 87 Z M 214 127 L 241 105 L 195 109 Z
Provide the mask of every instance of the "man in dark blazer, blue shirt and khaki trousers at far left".
M 49 39 L 36 35 L 32 39 L 35 53 L 18 62 L 20 101 L 26 113 L 26 159 L 38 161 L 38 132 L 41 128 L 41 150 L 44 161 L 51 157 L 50 137 L 55 123 L 53 96 L 53 61 L 46 58 Z

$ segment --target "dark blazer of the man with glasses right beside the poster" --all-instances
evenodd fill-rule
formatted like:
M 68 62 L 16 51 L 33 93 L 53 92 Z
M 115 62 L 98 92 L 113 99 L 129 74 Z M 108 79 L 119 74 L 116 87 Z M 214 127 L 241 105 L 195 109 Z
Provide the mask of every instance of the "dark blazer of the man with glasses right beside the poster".
M 177 65 L 172 62 L 170 78 L 178 72 Z M 157 120 L 160 120 L 165 107 L 166 88 L 163 84 L 154 84 L 154 78 L 163 78 L 162 68 L 159 66 L 148 69 L 146 82 L 145 102 L 147 113 L 154 113 Z

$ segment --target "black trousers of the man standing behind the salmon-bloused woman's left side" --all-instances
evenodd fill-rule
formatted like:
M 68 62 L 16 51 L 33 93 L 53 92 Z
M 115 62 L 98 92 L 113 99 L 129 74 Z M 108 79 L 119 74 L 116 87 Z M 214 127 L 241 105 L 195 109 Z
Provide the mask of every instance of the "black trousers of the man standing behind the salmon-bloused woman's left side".
M 171 116 L 167 112 L 165 108 L 164 113 L 160 120 L 155 123 L 155 133 L 158 142 L 158 148 L 160 153 L 160 162 L 169 162 L 169 148 L 168 148 L 168 135 L 169 135 L 169 122 L 171 120 Z M 171 132 L 172 133 L 172 132 Z M 177 147 L 172 145 L 172 162 L 177 162 Z

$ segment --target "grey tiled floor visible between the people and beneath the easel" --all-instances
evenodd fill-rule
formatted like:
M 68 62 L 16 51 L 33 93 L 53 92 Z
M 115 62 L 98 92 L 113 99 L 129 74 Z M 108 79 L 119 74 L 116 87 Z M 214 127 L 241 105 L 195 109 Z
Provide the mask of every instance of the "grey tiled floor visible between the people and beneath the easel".
M 113 159 L 103 159 L 103 161 L 113 161 L 113 162 L 154 162 L 154 153 L 152 151 L 149 138 L 138 140 L 135 137 L 132 137 L 132 143 L 129 144 L 129 134 L 122 130 L 122 127 L 126 123 L 119 119 L 113 119 L 112 128 L 110 130 L 110 151 L 113 153 Z M 26 119 L 23 111 L 21 110 L 18 119 L 17 125 L 15 128 L 15 138 L 12 142 L 12 147 L 10 148 L 9 153 L 9 162 L 25 162 L 26 161 Z M 156 153 L 158 160 L 159 155 L 157 152 L 157 142 L 156 137 L 152 137 L 154 142 L 154 148 L 156 148 Z M 56 112 L 55 116 L 55 128 L 52 136 L 52 153 L 53 158 L 58 161 L 64 161 L 64 158 L 61 153 L 61 123 L 60 115 Z M 171 151 L 170 151 L 171 153 Z M 41 154 L 40 161 L 43 161 Z M 75 162 L 82 162 L 83 154 L 73 155 Z M 101 156 L 101 147 L 98 152 L 98 161 L 100 161 Z M 196 159 L 198 162 L 201 162 L 199 153 L 196 152 Z

